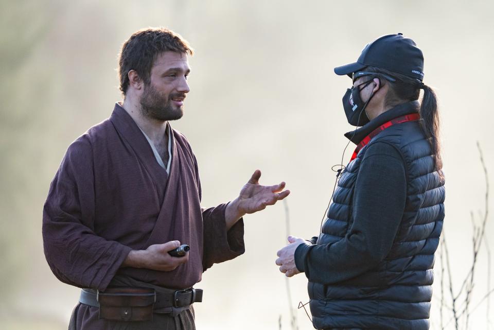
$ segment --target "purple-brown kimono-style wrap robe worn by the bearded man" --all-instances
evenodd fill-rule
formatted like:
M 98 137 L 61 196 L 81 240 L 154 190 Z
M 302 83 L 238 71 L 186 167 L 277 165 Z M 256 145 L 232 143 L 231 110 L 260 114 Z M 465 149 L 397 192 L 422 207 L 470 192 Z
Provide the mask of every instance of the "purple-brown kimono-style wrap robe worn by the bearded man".
M 118 104 L 68 147 L 43 209 L 44 252 L 60 281 L 104 290 L 123 275 L 182 289 L 244 252 L 243 221 L 226 232 L 226 204 L 201 209 L 196 157 L 186 138 L 171 132 L 169 175 Z M 177 269 L 120 268 L 132 249 L 170 240 L 190 246 L 188 262 Z

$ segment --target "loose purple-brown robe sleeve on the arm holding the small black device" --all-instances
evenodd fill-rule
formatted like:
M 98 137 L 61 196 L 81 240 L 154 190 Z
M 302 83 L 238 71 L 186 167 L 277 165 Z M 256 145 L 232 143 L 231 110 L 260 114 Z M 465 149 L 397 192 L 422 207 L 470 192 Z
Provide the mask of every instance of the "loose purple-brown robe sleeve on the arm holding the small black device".
M 43 248 L 57 278 L 104 290 L 131 248 L 94 232 L 94 168 L 89 138 L 69 146 L 43 208 Z

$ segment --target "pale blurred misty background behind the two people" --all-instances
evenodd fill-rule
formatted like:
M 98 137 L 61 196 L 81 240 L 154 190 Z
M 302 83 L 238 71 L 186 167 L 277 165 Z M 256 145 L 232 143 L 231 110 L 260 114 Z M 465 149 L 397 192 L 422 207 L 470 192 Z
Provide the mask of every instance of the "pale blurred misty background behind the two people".
M 351 130 L 341 103 L 351 81 L 334 75 L 333 67 L 355 61 L 366 43 L 383 34 L 412 38 L 425 55 L 424 81 L 440 99 L 444 228 L 459 289 L 473 258 L 471 213 L 479 223 L 485 210 L 477 141 L 494 176 L 488 75 L 493 9 L 493 2 L 478 0 L 2 0 L 0 328 L 67 327 L 79 289 L 58 282 L 46 264 L 43 203 L 67 146 L 120 100 L 115 69 L 121 44 L 148 26 L 168 27 L 196 50 L 185 115 L 172 125 L 197 155 L 203 205 L 235 198 L 259 168 L 261 183 L 287 182 L 291 234 L 305 238 L 319 233 L 334 182 L 331 166 L 341 162 L 343 133 Z M 492 239 L 491 222 L 486 236 Z M 289 280 L 289 301 L 274 264 L 287 242 L 284 205 L 247 216 L 245 224 L 245 254 L 214 266 L 197 285 L 205 290 L 204 303 L 196 307 L 197 327 L 290 329 L 289 308 L 295 307 L 298 327 L 312 328 L 303 309 L 296 310 L 299 301 L 308 301 L 305 276 Z M 478 307 L 470 323 L 480 329 L 489 328 L 489 302 L 482 300 L 490 288 L 484 248 L 478 260 L 471 303 Z M 435 329 L 440 271 L 436 258 Z M 454 323 L 447 309 L 443 322 L 447 328 Z

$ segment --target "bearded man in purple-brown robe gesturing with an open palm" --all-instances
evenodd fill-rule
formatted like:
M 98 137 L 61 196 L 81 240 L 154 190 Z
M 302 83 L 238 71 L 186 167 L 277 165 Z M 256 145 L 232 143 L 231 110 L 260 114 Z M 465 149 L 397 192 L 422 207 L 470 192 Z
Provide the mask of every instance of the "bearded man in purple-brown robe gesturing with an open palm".
M 244 252 L 242 216 L 288 196 L 256 170 L 239 196 L 202 209 L 195 155 L 169 121 L 189 92 L 188 43 L 156 28 L 121 49 L 120 90 L 109 119 L 72 143 L 43 210 L 51 270 L 83 288 L 72 329 L 194 329 L 193 288 L 214 263 Z M 181 244 L 184 256 L 168 252 Z

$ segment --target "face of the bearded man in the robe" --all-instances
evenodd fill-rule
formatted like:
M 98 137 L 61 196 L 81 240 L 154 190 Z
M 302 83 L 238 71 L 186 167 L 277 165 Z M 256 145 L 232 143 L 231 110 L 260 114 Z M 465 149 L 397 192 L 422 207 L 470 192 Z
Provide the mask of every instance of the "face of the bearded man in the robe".
M 184 115 L 185 95 L 190 91 L 187 55 L 165 51 L 157 56 L 151 68 L 149 84 L 140 97 L 143 114 L 156 120 L 175 120 Z

